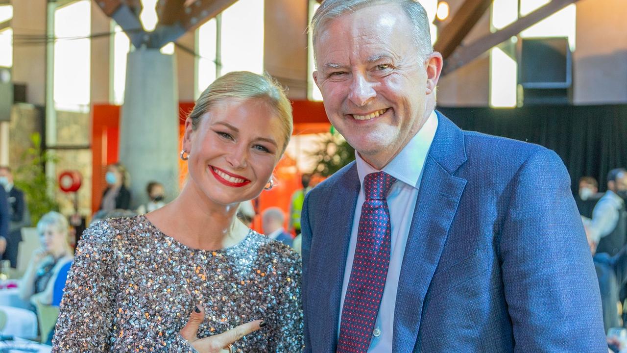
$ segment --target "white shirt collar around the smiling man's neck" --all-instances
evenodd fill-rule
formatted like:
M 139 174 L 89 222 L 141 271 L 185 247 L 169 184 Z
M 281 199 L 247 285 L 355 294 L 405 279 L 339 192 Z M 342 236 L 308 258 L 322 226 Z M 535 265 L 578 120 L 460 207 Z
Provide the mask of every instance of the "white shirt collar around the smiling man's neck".
M 411 187 L 418 188 L 424 161 L 426 161 L 437 129 L 438 116 L 435 111 L 432 111 L 423 127 L 409 140 L 409 143 L 401 149 L 399 154 L 383 167 L 383 171 Z M 372 168 L 357 151 L 355 151 L 355 161 L 359 182 L 363 186 L 366 175 L 376 173 L 379 170 Z

